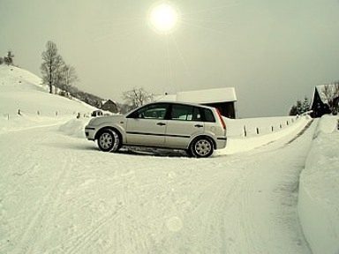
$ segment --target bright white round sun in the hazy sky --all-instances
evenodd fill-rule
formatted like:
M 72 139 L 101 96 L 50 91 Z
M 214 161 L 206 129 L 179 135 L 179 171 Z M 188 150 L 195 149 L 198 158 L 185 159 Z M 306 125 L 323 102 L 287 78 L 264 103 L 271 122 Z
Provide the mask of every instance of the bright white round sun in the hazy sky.
M 177 11 L 169 4 L 155 5 L 150 12 L 150 24 L 159 33 L 168 34 L 177 24 Z

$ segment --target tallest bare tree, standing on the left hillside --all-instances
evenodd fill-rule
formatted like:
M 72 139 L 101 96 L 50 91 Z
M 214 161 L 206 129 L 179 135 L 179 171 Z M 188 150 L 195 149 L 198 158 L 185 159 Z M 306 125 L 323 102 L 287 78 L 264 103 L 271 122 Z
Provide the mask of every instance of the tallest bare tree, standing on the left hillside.
M 56 43 L 48 41 L 46 48 L 46 51 L 42 52 L 42 80 L 44 84 L 49 84 L 49 93 L 53 93 L 52 87 L 58 86 L 61 80 L 60 71 L 64 65 L 64 60 L 57 53 Z

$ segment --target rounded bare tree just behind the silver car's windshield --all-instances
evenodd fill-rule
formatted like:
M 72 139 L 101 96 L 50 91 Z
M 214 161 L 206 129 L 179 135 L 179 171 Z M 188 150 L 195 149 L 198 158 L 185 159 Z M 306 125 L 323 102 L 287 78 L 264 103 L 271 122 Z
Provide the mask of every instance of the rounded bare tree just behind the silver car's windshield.
M 138 108 L 147 102 L 153 101 L 154 94 L 146 92 L 142 87 L 134 87 L 132 90 L 123 93 L 123 99 L 132 108 Z

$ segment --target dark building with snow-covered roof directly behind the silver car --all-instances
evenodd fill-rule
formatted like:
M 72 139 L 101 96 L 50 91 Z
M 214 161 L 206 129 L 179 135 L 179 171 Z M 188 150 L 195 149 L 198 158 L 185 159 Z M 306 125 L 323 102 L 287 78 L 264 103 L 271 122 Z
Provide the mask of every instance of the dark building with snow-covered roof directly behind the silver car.
M 155 101 L 183 101 L 206 105 L 218 108 L 222 116 L 236 118 L 237 96 L 234 87 L 178 92 L 156 96 L 154 99 Z

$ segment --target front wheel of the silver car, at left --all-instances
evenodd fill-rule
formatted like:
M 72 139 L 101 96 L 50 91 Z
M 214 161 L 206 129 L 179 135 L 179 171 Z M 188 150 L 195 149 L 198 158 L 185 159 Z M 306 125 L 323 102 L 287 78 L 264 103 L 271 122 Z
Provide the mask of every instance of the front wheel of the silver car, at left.
M 104 129 L 98 136 L 98 146 L 103 152 L 117 152 L 121 147 L 121 140 L 117 131 Z

